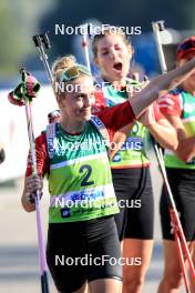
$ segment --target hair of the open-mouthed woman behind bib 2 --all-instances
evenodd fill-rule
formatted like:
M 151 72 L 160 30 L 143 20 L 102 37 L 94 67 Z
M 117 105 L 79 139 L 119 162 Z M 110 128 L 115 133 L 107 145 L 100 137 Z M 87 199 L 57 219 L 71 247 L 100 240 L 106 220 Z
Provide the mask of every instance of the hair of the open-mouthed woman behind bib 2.
M 124 43 L 129 47 L 132 47 L 130 40 L 127 39 L 125 32 L 119 28 L 119 27 L 107 27 L 104 28 L 99 34 L 95 34 L 92 41 L 92 51 L 93 51 L 93 55 L 94 58 L 96 58 L 98 55 L 98 42 L 103 39 L 106 36 L 110 34 L 115 34 L 115 36 L 120 36 L 122 38 L 122 40 L 124 41 Z M 133 47 L 132 47 L 132 51 L 133 51 Z

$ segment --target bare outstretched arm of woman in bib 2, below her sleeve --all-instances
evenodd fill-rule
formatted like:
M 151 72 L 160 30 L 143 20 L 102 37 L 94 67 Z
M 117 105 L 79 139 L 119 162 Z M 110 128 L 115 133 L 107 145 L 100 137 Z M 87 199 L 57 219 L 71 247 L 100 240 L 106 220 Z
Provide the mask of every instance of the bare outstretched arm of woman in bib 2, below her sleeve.
M 153 79 L 140 93 L 130 98 L 130 103 L 135 115 L 138 117 L 142 111 L 153 103 L 158 97 L 181 84 L 192 74 L 193 71 L 195 71 L 195 59 Z

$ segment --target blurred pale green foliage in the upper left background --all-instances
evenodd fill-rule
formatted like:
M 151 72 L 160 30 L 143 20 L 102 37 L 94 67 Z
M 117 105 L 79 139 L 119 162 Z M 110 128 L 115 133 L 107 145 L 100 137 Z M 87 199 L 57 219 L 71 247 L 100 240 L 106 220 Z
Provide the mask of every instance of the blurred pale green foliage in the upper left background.
M 31 37 L 50 7 L 51 0 L 0 1 L 0 77 L 18 71 L 22 61 L 34 53 Z

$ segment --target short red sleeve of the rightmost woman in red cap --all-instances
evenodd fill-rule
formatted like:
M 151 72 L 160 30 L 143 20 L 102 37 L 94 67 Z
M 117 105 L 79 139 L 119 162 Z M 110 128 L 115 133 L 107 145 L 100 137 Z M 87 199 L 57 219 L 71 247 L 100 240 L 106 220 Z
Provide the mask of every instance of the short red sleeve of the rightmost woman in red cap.
M 166 115 L 181 117 L 182 109 L 178 94 L 167 93 L 157 100 L 161 112 Z

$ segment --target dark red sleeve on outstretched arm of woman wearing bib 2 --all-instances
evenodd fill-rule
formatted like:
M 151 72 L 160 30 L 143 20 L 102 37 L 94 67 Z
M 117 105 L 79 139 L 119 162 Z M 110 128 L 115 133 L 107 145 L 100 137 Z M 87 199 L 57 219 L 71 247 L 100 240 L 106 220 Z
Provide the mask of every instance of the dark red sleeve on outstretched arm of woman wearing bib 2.
M 113 140 L 113 135 L 117 130 L 135 120 L 135 114 L 129 101 L 106 108 L 105 110 L 96 113 L 96 115 L 105 124 L 111 141 Z

